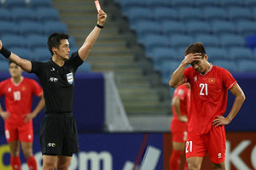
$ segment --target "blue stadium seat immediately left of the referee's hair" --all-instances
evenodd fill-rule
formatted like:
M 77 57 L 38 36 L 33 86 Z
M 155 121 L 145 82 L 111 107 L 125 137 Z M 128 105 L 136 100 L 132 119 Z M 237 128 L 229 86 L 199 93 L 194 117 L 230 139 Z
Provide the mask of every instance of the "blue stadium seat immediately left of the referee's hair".
M 47 48 L 47 36 L 43 35 L 29 35 L 26 37 L 28 48 Z

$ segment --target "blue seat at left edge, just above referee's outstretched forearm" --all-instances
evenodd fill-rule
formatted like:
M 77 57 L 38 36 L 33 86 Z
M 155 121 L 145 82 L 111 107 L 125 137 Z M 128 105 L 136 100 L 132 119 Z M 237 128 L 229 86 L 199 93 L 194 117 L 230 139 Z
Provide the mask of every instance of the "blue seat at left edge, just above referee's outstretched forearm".
M 1 37 L 5 48 L 25 48 L 25 38 L 17 35 L 5 35 Z

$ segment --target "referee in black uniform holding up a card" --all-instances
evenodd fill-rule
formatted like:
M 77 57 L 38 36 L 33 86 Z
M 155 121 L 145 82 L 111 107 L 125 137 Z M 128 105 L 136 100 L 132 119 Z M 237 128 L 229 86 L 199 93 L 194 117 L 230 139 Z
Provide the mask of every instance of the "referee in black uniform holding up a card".
M 95 28 L 70 59 L 67 34 L 54 33 L 49 36 L 48 48 L 52 58 L 45 63 L 21 59 L 4 48 L 0 41 L 0 54 L 20 65 L 23 70 L 35 73 L 43 87 L 45 116 L 40 127 L 43 170 L 68 169 L 73 153 L 79 151 L 73 118 L 74 74 L 90 53 L 106 19 L 107 14 L 101 10 L 97 14 Z

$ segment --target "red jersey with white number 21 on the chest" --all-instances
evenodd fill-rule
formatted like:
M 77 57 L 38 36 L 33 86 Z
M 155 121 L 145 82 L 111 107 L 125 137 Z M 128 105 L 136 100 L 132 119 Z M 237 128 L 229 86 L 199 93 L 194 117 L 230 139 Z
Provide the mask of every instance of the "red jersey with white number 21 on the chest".
M 207 133 L 216 116 L 224 115 L 228 89 L 236 84 L 236 80 L 229 71 L 215 65 L 211 65 L 205 75 L 193 67 L 186 68 L 183 77 L 191 85 L 188 131 L 198 135 Z

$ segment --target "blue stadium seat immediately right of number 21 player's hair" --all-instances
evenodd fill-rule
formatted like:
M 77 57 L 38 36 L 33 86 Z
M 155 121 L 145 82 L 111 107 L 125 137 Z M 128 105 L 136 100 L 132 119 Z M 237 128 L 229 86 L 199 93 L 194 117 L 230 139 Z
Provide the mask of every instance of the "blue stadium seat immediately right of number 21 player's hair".
M 210 61 L 217 59 L 230 59 L 226 48 L 206 48 L 206 53 Z

